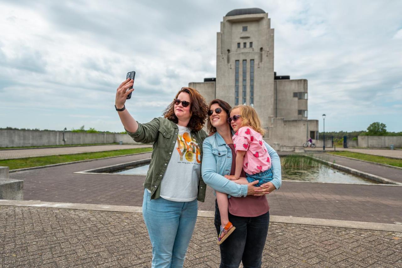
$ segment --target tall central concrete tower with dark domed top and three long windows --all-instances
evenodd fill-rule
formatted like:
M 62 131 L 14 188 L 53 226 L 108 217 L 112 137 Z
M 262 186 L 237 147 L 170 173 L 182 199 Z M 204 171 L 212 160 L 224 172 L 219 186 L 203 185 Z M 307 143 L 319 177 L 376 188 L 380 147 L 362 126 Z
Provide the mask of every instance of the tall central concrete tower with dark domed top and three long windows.
M 260 8 L 235 9 L 217 33 L 216 98 L 252 105 L 264 126 L 274 115 L 274 29 Z

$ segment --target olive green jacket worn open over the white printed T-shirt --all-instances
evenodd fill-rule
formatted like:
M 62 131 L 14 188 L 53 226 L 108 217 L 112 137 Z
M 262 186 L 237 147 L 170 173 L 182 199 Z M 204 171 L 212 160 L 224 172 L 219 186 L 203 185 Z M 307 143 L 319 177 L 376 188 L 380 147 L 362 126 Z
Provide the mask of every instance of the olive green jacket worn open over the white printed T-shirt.
M 127 133 L 136 142 L 153 143 L 150 168 L 145 178 L 144 187 L 151 191 L 151 199 L 159 198 L 160 181 L 162 181 L 176 145 L 178 127 L 174 122 L 166 118 L 158 117 L 145 124 L 138 123 L 136 132 L 127 131 Z M 197 141 L 197 144 L 199 144 L 198 149 L 202 159 L 202 143 L 207 137 L 207 134 L 203 130 L 197 132 L 191 131 L 191 136 Z M 180 171 L 178 170 L 177 172 Z M 204 202 L 206 187 L 207 185 L 200 175 L 198 183 L 198 201 Z

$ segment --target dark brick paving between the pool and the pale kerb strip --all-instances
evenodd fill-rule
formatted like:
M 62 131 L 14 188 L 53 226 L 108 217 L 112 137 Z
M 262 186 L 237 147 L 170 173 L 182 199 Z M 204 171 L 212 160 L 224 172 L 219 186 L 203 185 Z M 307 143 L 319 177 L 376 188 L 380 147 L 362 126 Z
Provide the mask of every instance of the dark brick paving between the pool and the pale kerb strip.
M 10 173 L 24 180 L 25 200 L 141 206 L 145 177 L 112 174 L 76 174 L 107 165 L 151 156 L 151 153 Z M 338 163 L 338 162 L 337 162 Z M 379 167 L 375 165 L 375 167 Z M 271 214 L 374 223 L 402 223 L 402 187 L 284 181 L 268 196 Z M 201 210 L 215 210 L 207 188 Z

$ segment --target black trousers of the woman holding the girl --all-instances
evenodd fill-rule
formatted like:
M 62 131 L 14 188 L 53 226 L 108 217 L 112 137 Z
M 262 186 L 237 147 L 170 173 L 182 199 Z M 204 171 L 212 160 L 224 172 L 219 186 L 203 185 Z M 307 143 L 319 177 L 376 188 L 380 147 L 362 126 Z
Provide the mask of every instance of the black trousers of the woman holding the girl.
M 221 264 L 219 268 L 260 268 L 269 226 L 269 212 L 256 217 L 240 217 L 229 213 L 229 221 L 236 230 L 219 245 Z M 215 228 L 219 235 L 221 217 L 215 201 Z

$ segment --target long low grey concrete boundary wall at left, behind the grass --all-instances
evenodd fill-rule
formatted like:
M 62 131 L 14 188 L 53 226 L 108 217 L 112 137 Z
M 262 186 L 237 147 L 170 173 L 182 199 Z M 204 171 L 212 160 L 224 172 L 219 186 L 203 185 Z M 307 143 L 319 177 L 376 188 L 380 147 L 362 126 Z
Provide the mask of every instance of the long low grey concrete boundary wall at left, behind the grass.
M 137 144 L 127 134 L 65 132 L 66 145 L 119 142 Z M 62 131 L 0 130 L 0 147 L 64 145 Z

